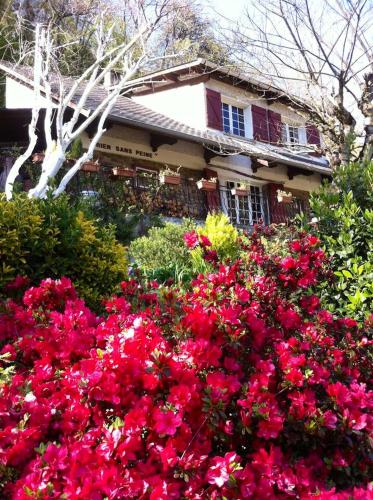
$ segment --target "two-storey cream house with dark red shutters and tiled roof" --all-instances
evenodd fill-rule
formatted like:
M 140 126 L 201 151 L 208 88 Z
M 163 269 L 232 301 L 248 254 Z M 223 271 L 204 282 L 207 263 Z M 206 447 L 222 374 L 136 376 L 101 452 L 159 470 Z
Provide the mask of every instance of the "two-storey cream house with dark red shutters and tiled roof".
M 18 120 L 23 138 L 16 142 L 25 143 L 32 102 L 30 68 L 0 63 L 0 70 L 7 76 L 0 138 L 9 135 L 5 124 Z M 109 79 L 95 88 L 87 112 L 111 84 Z M 122 195 L 141 205 L 150 186 L 156 185 L 150 200 L 154 211 L 203 218 L 208 210 L 222 210 L 235 224 L 250 227 L 261 220 L 286 222 L 307 210 L 309 193 L 331 174 L 317 129 L 297 112 L 296 99 L 290 102 L 274 87 L 201 59 L 134 84 L 130 96 L 119 97 L 97 144 L 100 172 L 80 172 L 80 191 L 94 190 L 98 180 L 105 189 L 122 182 Z M 91 137 L 90 130 L 82 134 L 83 147 Z M 37 148 L 43 149 L 42 139 Z M 159 184 L 165 166 L 178 169 L 177 184 Z M 125 177 L 115 175 L 121 172 Z M 197 184 L 211 178 L 216 180 L 213 185 Z

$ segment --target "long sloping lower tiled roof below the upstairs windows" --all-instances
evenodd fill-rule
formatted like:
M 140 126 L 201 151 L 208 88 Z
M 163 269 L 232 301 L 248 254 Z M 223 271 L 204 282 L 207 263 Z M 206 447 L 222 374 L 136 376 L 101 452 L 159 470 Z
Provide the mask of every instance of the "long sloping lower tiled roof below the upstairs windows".
M 33 86 L 32 68 L 30 67 L 14 66 L 8 62 L 0 61 L 0 70 L 28 86 Z M 65 88 L 69 88 L 73 83 L 73 79 L 64 77 L 63 83 Z M 77 102 L 84 88 L 84 85 L 79 87 L 73 99 L 72 106 L 74 106 L 74 101 Z M 57 88 L 55 89 L 55 95 L 58 95 Z M 87 99 L 85 112 L 89 114 L 95 110 L 106 96 L 106 88 L 102 85 L 97 85 Z M 296 153 L 284 147 L 264 144 L 259 141 L 236 138 L 222 132 L 199 130 L 173 120 L 161 113 L 157 113 L 125 96 L 118 97 L 111 110 L 109 119 L 115 123 L 122 123 L 136 128 L 163 133 L 167 136 L 186 141 L 197 142 L 208 149 L 222 154 L 224 152 L 230 154 L 236 152 L 321 174 L 330 174 L 331 172 L 328 162 L 323 158 L 310 157 L 306 153 Z

